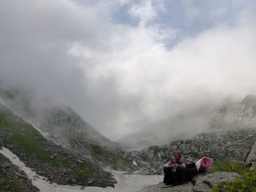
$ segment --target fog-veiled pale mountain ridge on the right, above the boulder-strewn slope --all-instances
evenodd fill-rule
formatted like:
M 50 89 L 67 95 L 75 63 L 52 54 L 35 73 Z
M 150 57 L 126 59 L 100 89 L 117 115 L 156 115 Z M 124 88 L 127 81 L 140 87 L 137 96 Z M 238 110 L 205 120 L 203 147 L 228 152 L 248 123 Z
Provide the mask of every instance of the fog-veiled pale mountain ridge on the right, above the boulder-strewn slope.
M 180 112 L 145 126 L 142 130 L 120 139 L 134 149 L 151 145 L 164 145 L 177 139 L 191 139 L 201 132 L 255 128 L 256 96 L 246 96 L 242 101 L 225 100 L 195 110 Z

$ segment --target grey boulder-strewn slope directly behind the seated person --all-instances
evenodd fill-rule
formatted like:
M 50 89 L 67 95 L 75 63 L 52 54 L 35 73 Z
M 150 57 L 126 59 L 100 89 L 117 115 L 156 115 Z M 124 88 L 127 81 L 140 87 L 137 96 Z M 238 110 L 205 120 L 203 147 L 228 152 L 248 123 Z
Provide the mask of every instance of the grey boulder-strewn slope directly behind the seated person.
M 256 140 L 256 129 L 243 128 L 233 131 L 214 131 L 198 134 L 192 139 L 176 140 L 167 145 L 151 146 L 130 152 L 138 164 L 144 164 L 142 174 L 163 174 L 162 165 L 173 152 L 181 151 L 183 161 L 197 161 L 203 156 L 213 158 L 214 164 L 224 161 L 244 161 Z

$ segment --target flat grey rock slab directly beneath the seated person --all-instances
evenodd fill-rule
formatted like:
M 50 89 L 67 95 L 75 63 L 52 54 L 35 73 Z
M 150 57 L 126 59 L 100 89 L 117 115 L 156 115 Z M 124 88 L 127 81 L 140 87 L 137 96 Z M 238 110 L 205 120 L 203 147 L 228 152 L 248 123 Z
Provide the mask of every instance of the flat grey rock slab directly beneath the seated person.
M 193 184 L 191 182 L 184 183 L 183 185 L 176 185 L 170 186 L 165 185 L 164 183 L 159 183 L 157 185 L 150 185 L 146 188 L 140 189 L 138 192 L 192 192 L 193 191 Z

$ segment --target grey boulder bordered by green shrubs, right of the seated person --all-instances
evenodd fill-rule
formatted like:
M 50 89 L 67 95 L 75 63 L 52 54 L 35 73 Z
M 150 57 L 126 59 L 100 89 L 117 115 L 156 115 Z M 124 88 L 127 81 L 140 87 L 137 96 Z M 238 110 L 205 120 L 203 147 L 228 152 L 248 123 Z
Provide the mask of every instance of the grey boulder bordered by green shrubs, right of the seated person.
M 207 174 L 203 177 L 197 177 L 193 190 L 196 192 L 210 191 L 212 187 L 225 182 L 232 183 L 238 177 L 241 176 L 236 172 L 216 172 Z

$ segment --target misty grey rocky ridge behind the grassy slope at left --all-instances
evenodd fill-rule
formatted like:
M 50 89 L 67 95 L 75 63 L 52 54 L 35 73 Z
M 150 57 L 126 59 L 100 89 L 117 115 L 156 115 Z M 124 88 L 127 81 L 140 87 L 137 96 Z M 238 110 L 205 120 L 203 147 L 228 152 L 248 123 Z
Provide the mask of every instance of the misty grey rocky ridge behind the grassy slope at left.
M 1 88 L 0 96 L 5 106 L 54 144 L 86 156 L 94 164 L 126 171 L 135 168 L 116 142 L 102 136 L 70 107 L 18 89 Z

